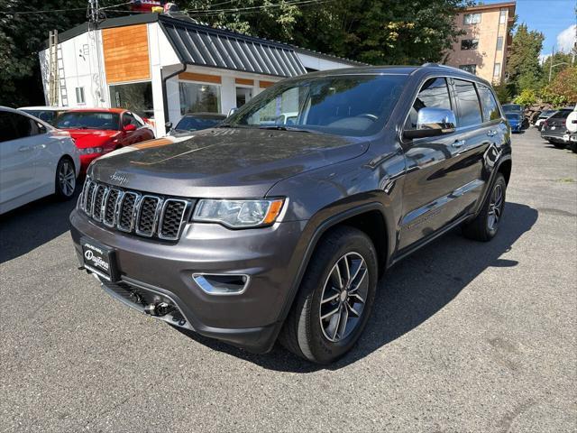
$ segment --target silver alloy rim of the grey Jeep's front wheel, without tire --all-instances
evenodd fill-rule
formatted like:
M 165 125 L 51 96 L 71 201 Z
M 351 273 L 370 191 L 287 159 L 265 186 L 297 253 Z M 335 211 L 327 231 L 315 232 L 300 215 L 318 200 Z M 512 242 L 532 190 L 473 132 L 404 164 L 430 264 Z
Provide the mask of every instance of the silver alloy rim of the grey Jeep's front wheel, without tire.
M 369 292 L 367 265 L 359 253 L 346 253 L 334 263 L 323 287 L 320 325 L 333 343 L 350 336 L 361 322 Z

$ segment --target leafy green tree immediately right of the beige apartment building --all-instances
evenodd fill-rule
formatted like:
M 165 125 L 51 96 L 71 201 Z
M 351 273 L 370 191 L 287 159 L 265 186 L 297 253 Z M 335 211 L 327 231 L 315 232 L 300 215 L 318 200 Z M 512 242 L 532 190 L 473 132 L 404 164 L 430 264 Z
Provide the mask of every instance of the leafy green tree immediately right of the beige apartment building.
M 525 23 L 517 27 L 507 63 L 508 80 L 516 94 L 526 88 L 537 90 L 541 87 L 542 69 L 539 64 L 539 53 L 544 40 L 542 32 L 529 31 Z

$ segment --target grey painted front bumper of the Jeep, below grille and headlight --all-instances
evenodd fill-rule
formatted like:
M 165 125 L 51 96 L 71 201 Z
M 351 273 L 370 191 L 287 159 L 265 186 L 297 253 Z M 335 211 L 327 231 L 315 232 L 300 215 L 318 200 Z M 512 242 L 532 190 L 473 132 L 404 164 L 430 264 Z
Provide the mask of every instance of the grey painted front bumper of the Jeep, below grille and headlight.
M 70 222 L 79 261 L 82 236 L 114 248 L 121 281 L 104 281 L 109 292 L 120 284 L 124 289 L 165 296 L 186 319 L 184 327 L 254 352 L 266 352 L 274 344 L 304 254 L 301 234 L 306 222 L 245 230 L 188 224 L 177 243 L 98 226 L 76 209 Z M 192 278 L 196 273 L 245 274 L 250 280 L 242 294 L 215 296 L 197 285 Z M 142 308 L 125 300 L 133 308 Z M 182 326 L 178 322 L 174 320 Z

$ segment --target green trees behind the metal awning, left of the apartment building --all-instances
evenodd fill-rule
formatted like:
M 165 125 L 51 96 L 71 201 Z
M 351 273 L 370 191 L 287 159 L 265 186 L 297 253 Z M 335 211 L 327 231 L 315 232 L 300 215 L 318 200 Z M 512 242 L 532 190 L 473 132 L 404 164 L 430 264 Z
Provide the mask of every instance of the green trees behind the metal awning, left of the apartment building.
M 468 0 L 338 0 L 287 5 L 285 0 L 274 4 L 270 0 L 232 0 L 226 9 L 269 7 L 258 13 L 198 11 L 208 9 L 211 3 L 191 0 L 186 7 L 201 21 L 373 64 L 443 60 L 444 51 L 461 34 L 454 14 L 472 4 Z M 284 6 L 273 7 L 279 4 Z

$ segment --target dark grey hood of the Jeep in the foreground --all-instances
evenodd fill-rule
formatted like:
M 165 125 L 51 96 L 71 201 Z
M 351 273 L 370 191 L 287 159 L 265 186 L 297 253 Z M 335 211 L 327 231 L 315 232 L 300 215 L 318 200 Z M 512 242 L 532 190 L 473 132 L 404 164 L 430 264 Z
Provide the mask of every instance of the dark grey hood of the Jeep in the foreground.
M 366 152 L 366 140 L 215 128 L 128 146 L 97 160 L 94 180 L 180 197 L 263 197 L 279 180 Z

